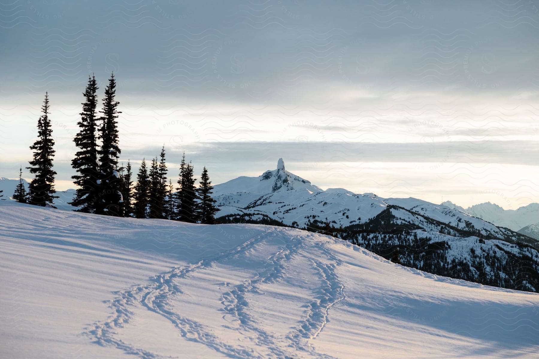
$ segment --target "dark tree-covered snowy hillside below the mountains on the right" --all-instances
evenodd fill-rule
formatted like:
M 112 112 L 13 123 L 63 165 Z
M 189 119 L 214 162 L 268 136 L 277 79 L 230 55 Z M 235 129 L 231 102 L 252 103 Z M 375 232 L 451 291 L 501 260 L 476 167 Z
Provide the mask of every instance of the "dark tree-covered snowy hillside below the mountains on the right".
M 331 230 L 321 228 L 331 233 Z M 389 207 L 368 223 L 337 230 L 343 240 L 399 263 L 475 283 L 537 292 L 539 252 L 531 238 L 500 230 L 505 240 L 478 237 L 469 227 L 447 227 L 418 212 Z M 516 243 L 515 243 L 516 242 Z

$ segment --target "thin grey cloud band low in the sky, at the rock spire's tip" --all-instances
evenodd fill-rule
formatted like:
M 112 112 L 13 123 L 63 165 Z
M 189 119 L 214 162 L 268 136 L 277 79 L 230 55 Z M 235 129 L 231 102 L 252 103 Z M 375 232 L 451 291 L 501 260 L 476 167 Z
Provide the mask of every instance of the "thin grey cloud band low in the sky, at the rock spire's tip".
M 125 151 L 122 158 L 140 160 L 157 156 L 159 146 Z M 223 142 L 187 144 L 169 149 L 169 163 L 179 164 L 182 151 L 196 167 L 208 167 L 218 176 L 274 169 L 282 157 L 287 163 L 494 163 L 539 165 L 539 149 L 532 141 L 453 141 L 438 143 L 333 143 L 333 142 Z M 299 165 L 301 166 L 301 165 Z M 292 167 L 289 167 L 293 171 Z M 174 173 L 174 172 L 173 172 Z M 175 175 L 175 174 L 173 174 Z M 227 177 L 227 175 L 229 177 Z M 258 175 L 258 174 L 257 174 Z M 216 182 L 216 183 L 217 183 Z

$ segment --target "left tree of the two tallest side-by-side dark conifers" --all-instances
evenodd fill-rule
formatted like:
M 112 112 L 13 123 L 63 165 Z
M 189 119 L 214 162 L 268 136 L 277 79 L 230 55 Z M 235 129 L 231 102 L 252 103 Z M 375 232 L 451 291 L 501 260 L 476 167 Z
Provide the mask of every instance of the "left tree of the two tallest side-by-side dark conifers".
M 75 198 L 70 203 L 74 207 L 79 207 L 78 212 L 95 213 L 98 203 L 101 176 L 98 164 L 98 144 L 97 144 L 97 120 L 96 110 L 98 90 L 95 76 L 88 76 L 88 85 L 82 95 L 85 102 L 82 103 L 80 112 L 79 132 L 75 135 L 73 142 L 79 147 L 75 153 L 75 158 L 71 161 L 71 166 L 78 172 L 71 178 L 78 186 Z

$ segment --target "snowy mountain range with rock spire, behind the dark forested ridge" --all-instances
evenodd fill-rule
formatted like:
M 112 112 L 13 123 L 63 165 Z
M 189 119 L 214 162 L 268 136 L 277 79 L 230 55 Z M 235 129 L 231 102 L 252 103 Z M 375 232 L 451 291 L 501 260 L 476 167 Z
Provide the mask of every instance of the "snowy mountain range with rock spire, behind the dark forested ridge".
M 505 210 L 490 202 L 464 209 L 450 201 L 436 205 L 416 198 L 381 198 L 374 193 L 356 194 L 344 188 L 326 191 L 286 170 L 279 159 L 277 169 L 259 177 L 238 177 L 214 186 L 219 216 L 267 216 L 289 226 L 305 227 L 313 220 L 328 221 L 337 227 L 365 222 L 386 207 L 399 206 L 432 219 L 458 226 L 466 220 L 483 235 L 497 233 L 497 227 L 519 231 L 539 222 L 539 203 L 517 210 Z M 485 223 L 490 222 L 490 223 Z M 539 239 L 539 238 L 537 238 Z

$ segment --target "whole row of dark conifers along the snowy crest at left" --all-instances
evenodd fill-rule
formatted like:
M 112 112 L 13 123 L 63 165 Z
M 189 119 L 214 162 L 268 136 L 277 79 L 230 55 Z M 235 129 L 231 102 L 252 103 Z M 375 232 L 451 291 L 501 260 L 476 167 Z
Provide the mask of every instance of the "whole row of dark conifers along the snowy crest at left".
M 95 76 L 88 78 L 88 85 L 83 93 L 79 131 L 74 137 L 78 150 L 71 161 L 76 174 L 72 176 L 77 190 L 72 206 L 78 212 L 102 215 L 126 216 L 136 218 L 156 218 L 180 220 L 185 222 L 215 222 L 215 200 L 211 198 L 212 186 L 208 170 L 204 167 L 199 186 L 194 178 L 194 166 L 185 161 L 185 152 L 179 168 L 178 187 L 168 179 L 165 163 L 165 149 L 161 149 L 159 158 L 151 160 L 148 169 L 143 159 L 136 182 L 133 181 L 130 161 L 124 167 L 119 164 L 121 154 L 119 146 L 118 110 L 116 101 L 116 81 L 110 76 L 103 107 L 97 109 L 98 90 Z M 54 158 L 54 139 L 49 105 L 49 94 L 45 94 L 42 115 L 38 118 L 38 139 L 30 149 L 33 159 L 26 167 L 34 175 L 29 191 L 22 180 L 22 168 L 19 170 L 19 183 L 13 199 L 38 206 L 53 206 L 56 191 L 52 169 Z M 175 191 L 176 190 L 176 191 Z

